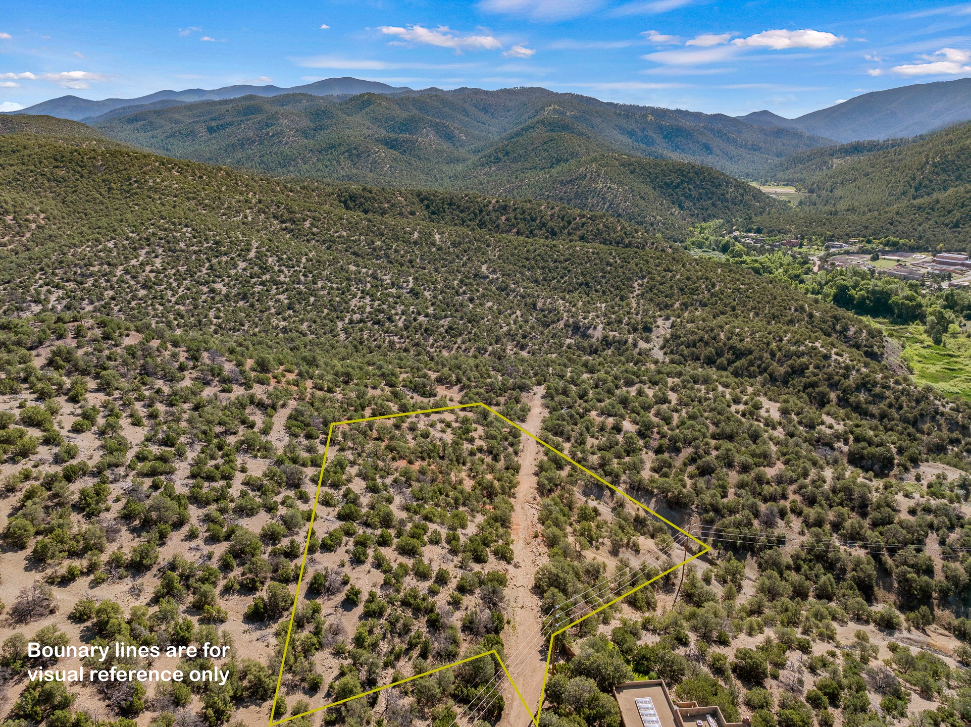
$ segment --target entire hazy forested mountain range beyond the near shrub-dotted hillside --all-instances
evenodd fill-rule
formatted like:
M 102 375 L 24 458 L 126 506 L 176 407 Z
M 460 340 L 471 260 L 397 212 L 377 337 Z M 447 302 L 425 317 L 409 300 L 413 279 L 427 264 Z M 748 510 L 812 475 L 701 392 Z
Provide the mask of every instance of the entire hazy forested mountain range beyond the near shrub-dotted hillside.
M 971 229 L 971 124 L 914 136 L 971 118 L 971 79 L 867 93 L 795 119 L 620 105 L 544 88 L 415 90 L 344 78 L 297 89 L 67 96 L 0 116 L 9 119 L 0 126 L 59 134 L 51 116 L 68 115 L 86 122 L 71 127 L 72 138 L 272 176 L 541 200 L 675 241 L 713 218 L 958 247 Z M 732 177 L 810 194 L 792 210 Z

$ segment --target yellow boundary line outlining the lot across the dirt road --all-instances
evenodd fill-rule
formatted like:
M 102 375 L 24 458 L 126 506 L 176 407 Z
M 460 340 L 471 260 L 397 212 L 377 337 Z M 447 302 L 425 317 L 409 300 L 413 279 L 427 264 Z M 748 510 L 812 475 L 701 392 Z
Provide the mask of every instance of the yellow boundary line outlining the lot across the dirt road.
M 292 714 L 292 715 L 290 715 L 288 717 L 285 717 L 284 719 L 278 719 L 278 720 L 274 721 L 273 720 L 273 712 L 277 708 L 277 700 L 280 697 L 280 686 L 283 683 L 283 679 L 284 679 L 284 667 L 286 665 L 286 650 L 287 650 L 287 648 L 289 647 L 289 644 L 290 644 L 290 633 L 293 630 L 293 618 L 296 615 L 297 602 L 300 600 L 300 583 L 303 581 L 304 569 L 305 569 L 305 567 L 307 565 L 307 550 L 310 547 L 310 536 L 311 536 L 311 533 L 314 531 L 314 520 L 317 518 L 317 504 L 318 504 L 318 500 L 320 498 L 320 487 L 323 484 L 323 468 L 327 466 L 327 454 L 330 451 L 330 439 L 331 439 L 331 437 L 332 437 L 332 435 L 334 433 L 334 427 L 341 426 L 343 424 L 359 424 L 359 423 L 364 422 L 364 421 L 376 421 L 378 419 L 394 419 L 394 418 L 397 418 L 399 416 L 414 416 L 415 414 L 430 414 L 430 413 L 439 413 L 439 412 L 452 412 L 452 411 L 459 410 L 459 409 L 472 409 L 473 407 L 482 407 L 486 411 L 495 414 L 496 416 L 498 416 L 500 419 L 502 419 L 506 423 L 511 424 L 512 426 L 516 427 L 517 429 L 519 429 L 520 432 L 522 432 L 523 434 L 525 434 L 525 435 L 531 437 L 532 439 L 536 440 L 536 442 L 538 442 L 539 444 L 545 446 L 546 448 L 548 448 L 548 449 L 556 452 L 556 454 L 558 454 L 559 456 L 561 456 L 563 459 L 565 459 L 567 462 L 569 462 L 570 464 L 572 464 L 574 467 L 577 467 L 580 470 L 582 470 L 583 472 L 585 472 L 591 478 L 596 479 L 598 482 L 607 485 L 608 487 L 610 487 L 615 492 L 618 492 L 619 494 L 623 495 L 625 498 L 627 498 L 628 500 L 630 500 L 630 502 L 634 503 L 634 505 L 638 506 L 642 510 L 645 510 L 647 512 L 650 512 L 651 514 L 653 514 L 654 517 L 656 517 L 659 520 L 662 520 L 663 522 L 667 523 L 668 525 L 670 525 L 671 527 L 673 527 L 675 530 L 677 530 L 679 533 L 681 533 L 682 535 L 686 536 L 687 538 L 690 538 L 692 541 L 694 541 L 698 545 L 701 545 L 702 546 L 702 549 L 699 550 L 694 555 L 692 555 L 690 558 L 686 558 L 686 560 L 683 560 L 678 565 L 676 565 L 676 566 L 674 566 L 672 568 L 669 568 L 668 570 L 664 571 L 664 573 L 661 573 L 661 574 L 659 574 L 657 576 L 654 576 L 654 578 L 651 578 L 650 580 L 647 580 L 647 581 L 641 583 L 637 587 L 631 588 L 626 593 L 623 593 L 623 594 L 619 595 L 613 601 L 610 601 L 609 603 L 604 604 L 603 606 L 601 606 L 596 611 L 590 611 L 585 616 L 582 616 L 581 618 L 578 618 L 573 623 L 567 624 L 566 626 L 564 626 L 563 628 L 561 628 L 559 631 L 553 632 L 550 635 L 550 648 L 547 650 L 546 670 L 543 673 L 543 687 L 540 690 L 540 701 L 539 701 L 539 704 L 536 706 L 536 713 L 535 714 L 533 713 L 533 710 L 531 710 L 529 708 L 529 705 L 526 704 L 526 700 L 523 699 L 522 694 L 519 692 L 519 686 L 517 686 L 516 682 L 513 680 L 513 677 L 512 677 L 512 675 L 510 675 L 509 670 L 506 669 L 506 665 L 502 662 L 502 658 L 499 656 L 498 653 L 496 653 L 496 650 L 495 649 L 492 649 L 490 651 L 485 651 L 484 653 L 477 654 L 475 656 L 469 656 L 468 658 L 465 658 L 465 659 L 461 659 L 459 661 L 452 662 L 452 664 L 446 664 L 444 667 L 438 667 L 437 669 L 432 669 L 431 671 L 424 672 L 423 674 L 417 674 L 414 677 L 408 677 L 406 679 L 401 679 L 399 681 L 395 681 L 395 682 L 393 682 L 391 684 L 385 684 L 385 686 L 379 686 L 379 687 L 377 687 L 375 689 L 371 689 L 369 691 L 362 692 L 361 694 L 355 694 L 353 697 L 348 697 L 347 699 L 342 699 L 342 700 L 340 700 L 338 702 L 331 702 L 329 705 L 323 705 L 322 707 L 317 707 L 317 708 L 315 708 L 313 710 L 307 710 L 307 711 L 301 712 L 299 714 Z M 687 563 L 691 562 L 692 560 L 694 560 L 698 556 L 704 555 L 710 549 L 711 549 L 711 546 L 710 545 L 705 545 L 700 540 L 698 540 L 697 538 L 695 538 L 693 535 L 691 535 L 690 533 L 688 533 L 686 530 L 682 530 L 680 527 L 678 527 L 677 525 L 675 525 L 673 522 L 671 522 L 670 520 L 668 520 L 663 515 L 660 515 L 657 512 L 654 512 L 653 510 L 651 510 L 651 508 L 649 508 L 644 503 L 642 503 L 642 502 L 640 502 L 638 500 L 635 500 L 630 495 L 628 495 L 626 492 L 624 492 L 623 490 L 619 489 L 618 487 L 615 487 L 613 484 L 611 484 L 610 482 L 608 482 L 606 479 L 603 479 L 599 475 L 597 475 L 597 474 L 595 474 L 593 472 L 590 472 L 582 464 L 580 464 L 579 462 L 573 460 L 572 458 L 570 458 L 566 454 L 563 454 L 563 452 L 561 452 L 556 447 L 551 446 L 551 445 L 548 445 L 546 442 L 544 442 L 543 440 L 541 440 L 539 437 L 537 437 L 532 432 L 529 432 L 529 431 L 523 429 L 515 421 L 512 421 L 512 420 L 506 418 L 501 413 L 496 412 L 494 409 L 492 409 L 491 407 L 483 404 L 482 402 L 476 402 L 475 404 L 456 404 L 456 405 L 453 405 L 451 407 L 438 407 L 437 409 L 423 409 L 423 410 L 420 410 L 419 412 L 403 412 L 403 413 L 396 413 L 396 414 L 384 414 L 382 416 L 364 416 L 364 417 L 362 417 L 360 419 L 346 419 L 345 421 L 335 421 L 327 429 L 327 444 L 323 448 L 323 462 L 320 464 L 320 476 L 319 476 L 319 478 L 317 480 L 317 496 L 314 498 L 314 508 L 311 510 L 311 514 L 310 514 L 310 525 L 307 528 L 307 543 L 306 543 L 306 545 L 304 545 L 304 557 L 303 557 L 303 561 L 300 563 L 300 575 L 297 577 L 297 591 L 296 591 L 296 593 L 293 596 L 293 607 L 290 609 L 290 623 L 289 623 L 289 626 L 287 626 L 287 628 L 286 628 L 286 641 L 284 642 L 284 655 L 283 655 L 283 657 L 280 660 L 280 675 L 277 677 L 277 691 L 274 692 L 274 694 L 273 694 L 273 705 L 270 707 L 270 721 L 269 721 L 268 727 L 276 727 L 276 725 L 284 724 L 285 722 L 288 722 L 291 719 L 296 719 L 297 717 L 305 717 L 308 714 L 313 714 L 314 712 L 317 712 L 317 711 L 329 710 L 331 707 L 338 707 L 340 705 L 343 705 L 343 704 L 346 704 L 348 702 L 351 702 L 354 699 L 360 699 L 361 697 L 366 697 L 366 696 L 368 696 L 370 694 L 376 694 L 376 693 L 378 693 L 380 691 L 384 691 L 385 689 L 390 689 L 392 686 L 398 686 L 399 684 L 405 684 L 405 683 L 407 683 L 409 681 L 414 681 L 415 679 L 419 679 L 421 677 L 427 677 L 427 676 L 432 675 L 432 674 L 435 674 L 437 672 L 441 672 L 441 671 L 443 671 L 445 669 L 451 669 L 452 667 L 457 667 L 460 664 L 465 664 L 465 663 L 470 662 L 470 661 L 473 661 L 475 659 L 481 659 L 484 656 L 494 656 L 495 657 L 495 660 L 497 662 L 499 662 L 499 666 L 502 667 L 502 671 L 506 674 L 506 677 L 509 679 L 509 682 L 513 685 L 513 688 L 516 690 L 516 694 L 519 697 L 519 702 L 521 702 L 522 703 L 522 706 L 526 709 L 527 712 L 529 712 L 529 718 L 532 720 L 532 722 L 535 725 L 535 727 L 539 727 L 539 724 L 540 724 L 540 714 L 543 711 L 543 698 L 546 695 L 547 677 L 550 676 L 550 664 L 552 663 L 552 646 L 553 646 L 553 640 L 557 636 L 559 636 L 560 634 L 562 634 L 563 632 L 565 632 L 566 630 L 568 630 L 568 629 L 573 628 L 574 626 L 576 626 L 581 621 L 585 621 L 590 616 L 592 616 L 592 615 L 594 615 L 596 613 L 599 613 L 600 611 L 603 611 L 604 609 L 610 608 L 611 606 L 613 606 L 614 604 L 616 604 L 618 601 L 620 601 L 620 600 L 626 598 L 627 596 L 629 596 L 631 593 L 636 593 L 641 588 L 645 587 L 646 585 L 650 585 L 651 583 L 653 583 L 658 578 L 663 578 L 664 576 L 667 576 L 669 573 L 672 573 L 673 571 L 677 571 L 679 568 L 682 568 L 683 566 L 685 566 Z

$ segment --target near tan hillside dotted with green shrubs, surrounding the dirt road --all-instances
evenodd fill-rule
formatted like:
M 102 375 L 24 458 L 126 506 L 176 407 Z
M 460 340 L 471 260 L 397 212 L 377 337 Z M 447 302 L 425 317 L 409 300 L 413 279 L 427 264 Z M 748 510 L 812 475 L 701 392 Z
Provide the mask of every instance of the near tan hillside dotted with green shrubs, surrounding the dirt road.
M 968 405 L 854 314 L 625 224 L 0 136 L 5 727 L 266 720 L 294 596 L 299 714 L 515 654 L 523 570 L 565 614 L 683 557 L 501 420 L 398 418 L 335 433 L 297 592 L 330 423 L 458 401 L 539 413 L 714 545 L 563 635 L 544 724 L 617 727 L 635 674 L 756 727 L 971 719 Z M 28 639 L 234 652 L 224 684 L 99 690 L 30 683 Z M 470 664 L 324 722 L 496 724 L 518 705 Z

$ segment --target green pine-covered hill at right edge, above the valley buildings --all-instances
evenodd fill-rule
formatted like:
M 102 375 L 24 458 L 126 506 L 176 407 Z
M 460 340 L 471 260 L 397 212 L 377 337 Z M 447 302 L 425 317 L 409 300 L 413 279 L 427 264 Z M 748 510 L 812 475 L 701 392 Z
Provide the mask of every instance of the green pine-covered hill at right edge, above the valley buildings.
M 828 162 L 827 162 L 828 157 Z M 757 220 L 768 229 L 898 237 L 966 249 L 971 228 L 971 124 L 907 143 L 844 145 L 793 157 L 778 179 L 811 196 L 794 215 Z M 813 172 L 813 168 L 820 168 Z

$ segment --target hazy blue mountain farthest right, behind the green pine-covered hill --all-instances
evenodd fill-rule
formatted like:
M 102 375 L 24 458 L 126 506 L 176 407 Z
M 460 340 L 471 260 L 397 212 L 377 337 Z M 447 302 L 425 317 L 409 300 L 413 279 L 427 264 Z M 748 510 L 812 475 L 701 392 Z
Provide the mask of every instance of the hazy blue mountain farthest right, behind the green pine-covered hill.
M 798 129 L 837 142 L 912 137 L 971 120 L 971 79 L 864 93 L 797 118 L 769 111 L 738 118 L 767 128 Z

